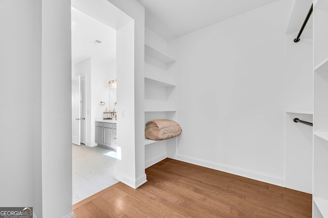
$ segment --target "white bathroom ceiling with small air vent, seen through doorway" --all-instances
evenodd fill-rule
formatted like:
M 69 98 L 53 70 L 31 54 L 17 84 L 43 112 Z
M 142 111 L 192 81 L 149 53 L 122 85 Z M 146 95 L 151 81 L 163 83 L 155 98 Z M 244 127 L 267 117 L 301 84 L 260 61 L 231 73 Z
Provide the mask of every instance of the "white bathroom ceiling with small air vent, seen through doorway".
M 72 64 L 90 57 L 106 62 L 116 59 L 116 30 L 72 8 Z

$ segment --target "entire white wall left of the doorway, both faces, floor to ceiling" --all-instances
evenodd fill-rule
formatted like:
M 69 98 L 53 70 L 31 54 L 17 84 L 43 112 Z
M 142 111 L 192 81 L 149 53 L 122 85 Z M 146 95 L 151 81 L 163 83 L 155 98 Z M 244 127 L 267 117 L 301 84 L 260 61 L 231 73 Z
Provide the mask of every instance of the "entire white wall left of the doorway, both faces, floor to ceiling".
M 64 217 L 72 212 L 70 2 L 1 1 L 0 12 L 0 205 Z

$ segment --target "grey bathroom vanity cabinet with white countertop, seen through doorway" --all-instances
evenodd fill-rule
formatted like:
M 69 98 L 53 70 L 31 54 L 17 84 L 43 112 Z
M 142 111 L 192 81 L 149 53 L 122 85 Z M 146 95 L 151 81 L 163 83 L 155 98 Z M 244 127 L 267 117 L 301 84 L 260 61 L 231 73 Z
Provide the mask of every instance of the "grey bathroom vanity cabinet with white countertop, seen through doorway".
M 116 150 L 116 120 L 96 120 L 95 142 L 100 147 Z

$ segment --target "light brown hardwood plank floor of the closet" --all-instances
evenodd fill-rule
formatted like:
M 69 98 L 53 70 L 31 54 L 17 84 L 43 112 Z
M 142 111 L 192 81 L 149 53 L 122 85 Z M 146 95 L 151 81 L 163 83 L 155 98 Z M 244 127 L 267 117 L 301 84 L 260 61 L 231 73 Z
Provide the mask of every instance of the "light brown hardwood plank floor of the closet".
M 73 205 L 84 217 L 311 217 L 312 195 L 173 159 Z

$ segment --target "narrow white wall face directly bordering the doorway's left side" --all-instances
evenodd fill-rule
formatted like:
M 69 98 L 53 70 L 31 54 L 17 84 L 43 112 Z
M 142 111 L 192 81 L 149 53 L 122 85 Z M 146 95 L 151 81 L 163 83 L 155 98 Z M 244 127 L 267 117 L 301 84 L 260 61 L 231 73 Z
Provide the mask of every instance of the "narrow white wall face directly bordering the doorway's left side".
M 64 217 L 72 213 L 70 1 L 42 1 L 41 84 L 42 214 L 36 215 Z

